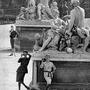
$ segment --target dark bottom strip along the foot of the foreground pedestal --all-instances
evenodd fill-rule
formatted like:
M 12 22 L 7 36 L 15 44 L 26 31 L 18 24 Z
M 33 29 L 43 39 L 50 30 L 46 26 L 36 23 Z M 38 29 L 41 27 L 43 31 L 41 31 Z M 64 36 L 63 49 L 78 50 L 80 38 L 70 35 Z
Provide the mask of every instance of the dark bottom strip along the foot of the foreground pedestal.
M 40 84 L 40 90 L 46 90 L 46 86 Z M 52 84 L 49 90 L 90 90 L 90 83 L 88 84 L 73 84 L 73 83 L 62 83 L 62 84 Z

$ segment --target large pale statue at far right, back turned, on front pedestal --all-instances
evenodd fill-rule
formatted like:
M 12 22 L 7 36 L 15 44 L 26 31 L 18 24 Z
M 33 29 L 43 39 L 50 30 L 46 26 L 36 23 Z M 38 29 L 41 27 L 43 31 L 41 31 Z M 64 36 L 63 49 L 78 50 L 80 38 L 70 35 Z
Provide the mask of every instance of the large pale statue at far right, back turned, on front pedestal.
M 67 30 L 67 33 L 70 34 L 73 26 L 77 28 L 78 35 L 82 39 L 85 39 L 84 49 L 83 49 L 83 51 L 85 52 L 87 46 L 85 44 L 89 41 L 89 36 L 87 35 L 87 32 L 84 27 L 85 11 L 83 8 L 79 6 L 79 0 L 71 0 L 71 3 L 74 8 L 71 10 L 70 13 L 71 19 L 69 22 L 69 29 Z

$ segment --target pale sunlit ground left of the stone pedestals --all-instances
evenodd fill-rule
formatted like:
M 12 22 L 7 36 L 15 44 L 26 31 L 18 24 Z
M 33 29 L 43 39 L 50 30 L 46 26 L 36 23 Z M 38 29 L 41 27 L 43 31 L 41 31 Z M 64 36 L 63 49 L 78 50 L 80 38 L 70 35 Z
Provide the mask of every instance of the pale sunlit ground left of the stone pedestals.
M 16 70 L 19 66 L 17 63 L 20 53 L 15 56 L 9 56 L 9 29 L 10 25 L 0 26 L 0 90 L 18 90 L 16 82 Z M 28 66 L 29 73 L 25 76 L 25 83 L 29 85 L 31 81 L 32 64 Z M 22 86 L 22 90 L 26 90 Z

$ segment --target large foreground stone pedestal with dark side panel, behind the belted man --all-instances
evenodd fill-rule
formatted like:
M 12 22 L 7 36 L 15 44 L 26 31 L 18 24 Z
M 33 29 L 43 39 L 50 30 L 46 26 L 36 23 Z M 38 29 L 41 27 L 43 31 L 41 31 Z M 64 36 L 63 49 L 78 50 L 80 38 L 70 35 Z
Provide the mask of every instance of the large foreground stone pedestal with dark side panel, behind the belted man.
M 46 90 L 43 70 L 40 69 L 42 57 L 46 54 L 50 55 L 50 61 L 56 66 L 48 90 L 90 90 L 90 53 L 67 54 L 49 50 L 32 54 L 32 80 L 36 80 L 35 84 L 39 85 L 40 90 Z

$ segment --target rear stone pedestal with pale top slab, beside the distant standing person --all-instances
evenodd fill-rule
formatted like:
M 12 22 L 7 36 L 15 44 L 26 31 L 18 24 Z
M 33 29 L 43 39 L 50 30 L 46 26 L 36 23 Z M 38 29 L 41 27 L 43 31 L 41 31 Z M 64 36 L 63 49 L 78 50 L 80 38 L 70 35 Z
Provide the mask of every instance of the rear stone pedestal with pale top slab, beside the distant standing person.
M 42 21 L 16 21 L 16 30 L 19 33 L 19 37 L 15 42 L 17 50 L 33 50 L 35 44 L 34 35 L 36 33 L 42 33 L 43 28 L 49 29 L 50 25 L 47 22 Z

